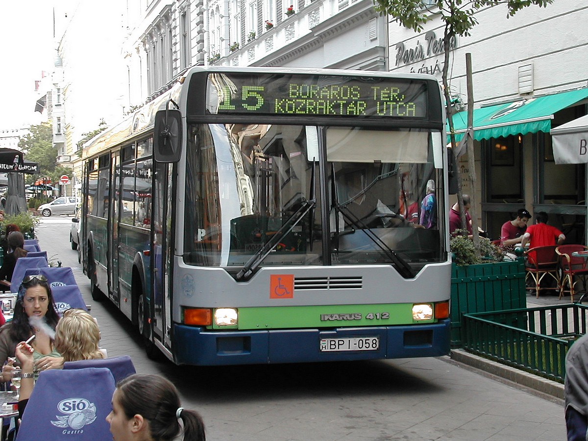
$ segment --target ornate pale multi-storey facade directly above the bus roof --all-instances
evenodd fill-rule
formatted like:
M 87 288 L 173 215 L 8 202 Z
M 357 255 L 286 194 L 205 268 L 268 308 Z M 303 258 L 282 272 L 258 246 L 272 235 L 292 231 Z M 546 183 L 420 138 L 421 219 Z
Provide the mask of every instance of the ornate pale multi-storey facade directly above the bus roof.
M 129 1 L 128 108 L 192 65 L 387 70 L 386 19 L 370 0 Z

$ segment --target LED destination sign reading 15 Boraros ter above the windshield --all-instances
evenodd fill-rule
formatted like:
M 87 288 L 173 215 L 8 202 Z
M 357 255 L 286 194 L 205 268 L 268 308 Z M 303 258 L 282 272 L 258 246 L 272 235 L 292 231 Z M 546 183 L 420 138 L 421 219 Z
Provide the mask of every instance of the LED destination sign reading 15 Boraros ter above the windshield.
M 425 118 L 427 84 L 410 79 L 304 74 L 209 74 L 209 113 Z

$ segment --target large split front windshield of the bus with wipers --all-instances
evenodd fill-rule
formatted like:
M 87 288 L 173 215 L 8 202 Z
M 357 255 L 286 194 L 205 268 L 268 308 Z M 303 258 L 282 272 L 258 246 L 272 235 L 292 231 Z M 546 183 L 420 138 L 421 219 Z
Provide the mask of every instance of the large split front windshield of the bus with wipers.
M 242 268 L 262 249 L 261 266 L 441 261 L 433 133 L 189 126 L 184 261 Z

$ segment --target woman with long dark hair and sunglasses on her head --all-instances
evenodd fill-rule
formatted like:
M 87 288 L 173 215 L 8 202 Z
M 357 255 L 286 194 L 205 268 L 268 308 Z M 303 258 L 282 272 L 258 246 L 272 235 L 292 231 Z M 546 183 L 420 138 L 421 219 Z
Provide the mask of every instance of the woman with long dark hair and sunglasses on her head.
M 54 345 L 58 321 L 59 315 L 45 276 L 33 275 L 22 280 L 16 296 L 14 317 L 0 328 L 0 362 L 4 363 L 11 357 L 2 367 L 3 381 L 10 379 L 10 372 L 14 369 L 16 345 L 32 335 L 36 336 L 31 343 L 36 372 L 63 367 L 64 359 Z

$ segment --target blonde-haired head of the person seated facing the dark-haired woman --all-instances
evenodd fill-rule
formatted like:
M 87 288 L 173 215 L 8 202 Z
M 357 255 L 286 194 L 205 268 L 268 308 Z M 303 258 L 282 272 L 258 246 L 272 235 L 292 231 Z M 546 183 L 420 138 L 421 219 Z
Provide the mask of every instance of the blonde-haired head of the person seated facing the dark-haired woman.
M 68 309 L 55 328 L 55 349 L 64 362 L 104 358 L 98 348 L 100 329 L 96 320 L 83 309 Z

